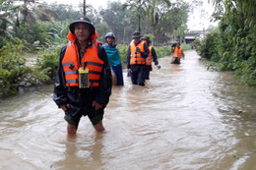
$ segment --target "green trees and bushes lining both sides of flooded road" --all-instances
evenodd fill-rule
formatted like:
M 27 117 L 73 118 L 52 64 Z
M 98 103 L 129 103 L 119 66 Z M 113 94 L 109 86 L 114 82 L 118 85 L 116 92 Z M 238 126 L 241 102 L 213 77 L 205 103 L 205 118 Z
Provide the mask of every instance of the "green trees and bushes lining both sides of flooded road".
M 214 17 L 221 21 L 220 26 L 197 42 L 198 53 L 213 61 L 211 68 L 234 71 L 244 84 L 256 85 L 255 1 L 224 0 L 224 4 L 216 1 L 215 5 Z M 124 67 L 135 29 L 150 35 L 159 57 L 171 55 L 170 39 L 182 39 L 187 29 L 189 4 L 184 1 L 127 0 L 123 4 L 110 2 L 99 10 L 86 6 L 84 11 L 83 7 L 81 4 L 81 9 L 74 10 L 61 4 L 0 0 L 1 96 L 32 85 L 52 84 L 60 49 L 68 42 L 69 25 L 84 13 L 102 43 L 106 32 L 115 33 Z M 182 47 L 190 49 L 186 44 Z M 37 54 L 32 66 L 27 64 L 30 53 Z

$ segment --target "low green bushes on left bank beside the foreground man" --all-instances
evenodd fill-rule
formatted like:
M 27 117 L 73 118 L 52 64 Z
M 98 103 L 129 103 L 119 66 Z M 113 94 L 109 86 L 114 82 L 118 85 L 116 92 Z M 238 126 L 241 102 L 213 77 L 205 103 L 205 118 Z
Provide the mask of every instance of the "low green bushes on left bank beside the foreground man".
M 0 49 L 0 94 L 16 94 L 19 87 L 52 83 L 55 77 L 59 48 L 39 53 L 37 66 L 26 66 L 24 42 L 16 38 L 17 44 L 7 43 Z

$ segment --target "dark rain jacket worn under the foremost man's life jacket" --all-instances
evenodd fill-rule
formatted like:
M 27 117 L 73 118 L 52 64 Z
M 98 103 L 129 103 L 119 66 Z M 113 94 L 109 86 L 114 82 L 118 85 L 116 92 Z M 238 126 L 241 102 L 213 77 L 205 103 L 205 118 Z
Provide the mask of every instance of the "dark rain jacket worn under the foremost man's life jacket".
M 62 60 L 66 52 L 67 45 L 62 47 L 59 59 L 59 66 L 54 85 L 53 100 L 58 106 L 70 104 L 73 112 L 78 112 L 81 107 L 91 105 L 95 100 L 97 103 L 106 106 L 109 101 L 112 87 L 111 70 L 107 55 L 101 45 L 97 46 L 98 57 L 104 62 L 100 74 L 98 86 L 91 88 L 79 88 L 78 86 L 67 87 L 65 82 Z

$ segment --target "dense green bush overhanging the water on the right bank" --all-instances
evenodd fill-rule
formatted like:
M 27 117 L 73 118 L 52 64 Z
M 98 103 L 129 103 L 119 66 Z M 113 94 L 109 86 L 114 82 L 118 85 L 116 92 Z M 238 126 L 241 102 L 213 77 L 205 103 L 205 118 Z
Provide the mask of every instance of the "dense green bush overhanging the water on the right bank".
M 208 69 L 234 71 L 239 82 L 255 86 L 256 41 L 253 37 L 256 27 L 246 31 L 228 27 L 229 25 L 221 22 L 219 29 L 207 34 L 202 41 L 195 41 L 197 52 L 202 58 L 212 61 Z

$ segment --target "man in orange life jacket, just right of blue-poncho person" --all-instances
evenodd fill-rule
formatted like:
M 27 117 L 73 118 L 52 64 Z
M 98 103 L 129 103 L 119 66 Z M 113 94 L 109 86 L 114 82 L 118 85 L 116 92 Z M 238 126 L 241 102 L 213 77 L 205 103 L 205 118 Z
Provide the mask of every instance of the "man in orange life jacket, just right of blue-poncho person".
M 127 69 L 131 74 L 133 85 L 145 85 L 146 58 L 150 54 L 148 44 L 141 40 L 141 33 L 135 30 L 127 51 Z

